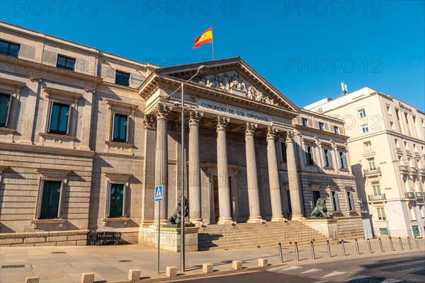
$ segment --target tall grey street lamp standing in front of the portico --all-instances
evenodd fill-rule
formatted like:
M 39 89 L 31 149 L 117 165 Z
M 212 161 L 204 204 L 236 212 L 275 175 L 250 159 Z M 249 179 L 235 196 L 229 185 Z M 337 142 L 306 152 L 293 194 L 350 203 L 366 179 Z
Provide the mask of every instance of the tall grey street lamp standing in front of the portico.
M 188 83 L 189 81 L 191 81 L 194 77 L 198 76 L 198 74 L 205 73 L 205 71 L 208 71 L 208 69 L 209 69 L 209 67 L 207 67 L 205 65 L 201 65 L 200 67 L 198 67 L 198 70 L 196 71 L 196 73 L 193 76 L 191 76 L 191 78 L 188 79 L 187 81 L 182 82 L 181 86 L 179 87 L 179 88 L 181 88 L 181 202 L 183 202 L 181 204 L 181 212 L 180 212 L 180 215 L 182 217 L 182 221 L 181 221 L 181 242 L 180 242 L 181 272 L 185 271 L 184 188 L 186 187 L 186 185 L 185 185 L 185 167 L 186 167 L 186 164 L 184 163 L 184 159 L 185 159 L 184 158 L 185 157 L 184 156 L 184 85 L 186 83 Z M 176 91 L 179 91 L 179 88 L 177 88 Z M 166 98 L 164 100 L 168 100 L 174 93 L 176 93 L 176 91 L 173 91 L 173 93 L 171 93 L 169 96 L 166 96 Z

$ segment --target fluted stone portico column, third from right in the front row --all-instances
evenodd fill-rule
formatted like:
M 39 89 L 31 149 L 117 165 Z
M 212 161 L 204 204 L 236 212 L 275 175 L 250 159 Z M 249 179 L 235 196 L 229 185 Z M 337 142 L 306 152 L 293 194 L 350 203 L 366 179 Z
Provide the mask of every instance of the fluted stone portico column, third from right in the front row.
M 249 219 L 248 223 L 261 222 L 259 180 L 257 176 L 254 132 L 257 125 L 246 122 L 245 151 L 246 151 L 246 176 L 248 178 Z

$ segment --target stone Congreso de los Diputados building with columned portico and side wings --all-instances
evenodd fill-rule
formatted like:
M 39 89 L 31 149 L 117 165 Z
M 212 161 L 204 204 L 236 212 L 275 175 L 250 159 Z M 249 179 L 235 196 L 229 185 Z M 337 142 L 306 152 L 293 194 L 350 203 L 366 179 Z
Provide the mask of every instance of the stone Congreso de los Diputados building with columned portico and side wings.
M 137 243 L 159 209 L 166 222 L 182 83 L 191 221 L 296 221 L 325 197 L 363 233 L 342 120 L 297 108 L 239 57 L 159 68 L 8 23 L 0 40 L 1 245 Z

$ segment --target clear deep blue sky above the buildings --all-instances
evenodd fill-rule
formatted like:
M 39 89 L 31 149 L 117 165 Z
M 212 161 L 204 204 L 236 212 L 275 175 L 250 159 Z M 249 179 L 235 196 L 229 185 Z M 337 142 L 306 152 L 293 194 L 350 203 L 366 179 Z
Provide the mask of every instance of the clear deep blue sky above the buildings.
M 241 56 L 302 107 L 370 86 L 425 110 L 424 1 L 1 1 L 1 21 L 162 66 Z

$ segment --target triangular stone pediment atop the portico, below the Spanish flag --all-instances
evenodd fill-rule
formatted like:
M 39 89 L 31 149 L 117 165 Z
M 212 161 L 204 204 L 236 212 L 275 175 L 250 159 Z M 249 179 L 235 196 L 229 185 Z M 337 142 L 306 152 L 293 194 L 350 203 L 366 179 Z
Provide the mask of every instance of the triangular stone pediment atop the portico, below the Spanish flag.
M 300 111 L 288 98 L 239 57 L 161 68 L 155 72 L 163 76 L 187 80 L 196 74 L 198 68 L 203 65 L 208 67 L 207 71 L 195 76 L 191 80 L 192 85 L 199 84 L 204 88 L 211 88 L 237 98 L 254 100 L 293 112 Z

